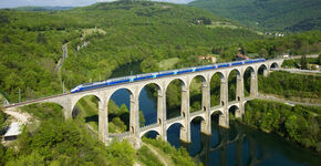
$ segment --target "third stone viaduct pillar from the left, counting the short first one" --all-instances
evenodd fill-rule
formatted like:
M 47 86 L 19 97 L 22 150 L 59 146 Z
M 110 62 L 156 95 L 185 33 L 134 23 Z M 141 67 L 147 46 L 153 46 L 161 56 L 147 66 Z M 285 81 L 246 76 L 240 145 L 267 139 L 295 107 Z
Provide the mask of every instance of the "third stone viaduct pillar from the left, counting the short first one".
M 137 93 L 131 95 L 130 112 L 130 132 L 132 133 L 132 145 L 136 149 L 141 147 L 138 96 L 139 94 L 137 95 Z

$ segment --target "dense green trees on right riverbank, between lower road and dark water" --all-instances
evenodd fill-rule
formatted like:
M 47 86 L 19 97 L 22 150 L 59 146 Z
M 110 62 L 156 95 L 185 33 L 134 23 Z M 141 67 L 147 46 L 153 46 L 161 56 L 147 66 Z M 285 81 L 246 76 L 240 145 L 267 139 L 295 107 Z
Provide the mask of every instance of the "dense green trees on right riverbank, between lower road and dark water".
M 245 123 L 321 152 L 320 107 L 253 100 L 246 103 Z

